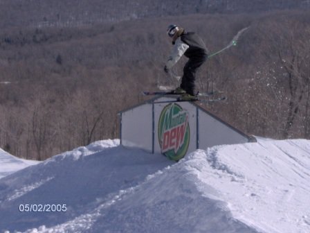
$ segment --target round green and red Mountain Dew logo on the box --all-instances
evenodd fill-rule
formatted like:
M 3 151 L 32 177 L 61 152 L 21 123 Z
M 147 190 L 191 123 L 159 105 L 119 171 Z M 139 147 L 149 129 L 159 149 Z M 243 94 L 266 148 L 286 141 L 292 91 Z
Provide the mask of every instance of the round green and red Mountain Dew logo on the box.
M 188 112 L 172 103 L 164 107 L 158 121 L 158 141 L 161 153 L 178 161 L 188 152 L 190 126 Z

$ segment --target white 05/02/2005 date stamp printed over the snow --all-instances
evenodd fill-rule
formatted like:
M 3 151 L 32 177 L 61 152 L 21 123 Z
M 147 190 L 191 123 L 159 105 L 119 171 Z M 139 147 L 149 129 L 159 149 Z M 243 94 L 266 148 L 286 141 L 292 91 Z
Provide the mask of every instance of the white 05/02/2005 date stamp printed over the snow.
M 21 204 L 19 212 L 66 212 L 66 204 Z

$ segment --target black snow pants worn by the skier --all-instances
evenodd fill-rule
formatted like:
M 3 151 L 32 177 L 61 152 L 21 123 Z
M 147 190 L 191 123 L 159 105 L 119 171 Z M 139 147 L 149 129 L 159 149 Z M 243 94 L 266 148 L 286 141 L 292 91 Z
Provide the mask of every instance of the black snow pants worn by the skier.
M 206 62 L 207 58 L 208 56 L 190 58 L 183 68 L 183 77 L 180 87 L 192 96 L 194 96 L 196 71 L 201 67 L 203 62 Z

